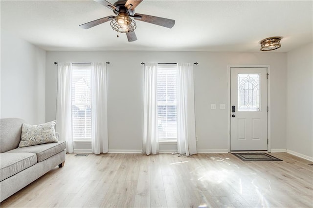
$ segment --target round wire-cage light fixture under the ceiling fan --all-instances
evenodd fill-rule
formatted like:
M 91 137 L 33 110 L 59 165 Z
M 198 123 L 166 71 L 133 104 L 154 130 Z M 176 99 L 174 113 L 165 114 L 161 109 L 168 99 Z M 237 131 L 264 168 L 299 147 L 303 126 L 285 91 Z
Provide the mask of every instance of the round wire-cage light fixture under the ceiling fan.
M 121 12 L 116 18 L 112 19 L 111 27 L 119 33 L 129 33 L 136 29 L 136 23 L 127 13 Z

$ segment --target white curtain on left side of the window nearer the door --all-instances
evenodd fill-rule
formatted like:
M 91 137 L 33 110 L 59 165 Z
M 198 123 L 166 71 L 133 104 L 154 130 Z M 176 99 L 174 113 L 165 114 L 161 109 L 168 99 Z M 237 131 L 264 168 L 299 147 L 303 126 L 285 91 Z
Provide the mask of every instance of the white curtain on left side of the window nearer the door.
M 157 63 L 146 63 L 144 68 L 144 112 L 142 152 L 158 152 L 157 102 L 156 102 Z

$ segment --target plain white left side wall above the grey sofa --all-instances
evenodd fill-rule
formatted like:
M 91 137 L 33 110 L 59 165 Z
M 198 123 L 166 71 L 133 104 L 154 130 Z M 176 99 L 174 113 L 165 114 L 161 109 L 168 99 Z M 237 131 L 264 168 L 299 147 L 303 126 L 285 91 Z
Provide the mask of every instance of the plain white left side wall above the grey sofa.
M 1 118 L 45 122 L 45 51 L 1 30 Z

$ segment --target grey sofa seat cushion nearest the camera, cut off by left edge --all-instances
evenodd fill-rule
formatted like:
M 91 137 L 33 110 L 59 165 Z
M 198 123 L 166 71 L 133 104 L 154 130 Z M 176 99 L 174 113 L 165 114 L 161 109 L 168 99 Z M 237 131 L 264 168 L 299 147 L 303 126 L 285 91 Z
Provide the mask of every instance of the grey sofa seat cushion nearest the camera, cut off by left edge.
M 0 154 L 0 179 L 3 181 L 6 178 L 15 175 L 30 166 L 37 163 L 36 154 L 30 152 L 8 153 Z

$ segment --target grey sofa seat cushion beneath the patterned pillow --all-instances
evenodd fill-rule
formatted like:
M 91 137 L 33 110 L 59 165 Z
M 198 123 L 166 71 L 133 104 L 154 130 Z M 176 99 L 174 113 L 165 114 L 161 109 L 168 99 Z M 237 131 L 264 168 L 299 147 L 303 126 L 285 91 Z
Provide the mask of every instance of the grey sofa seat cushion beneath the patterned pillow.
M 41 161 L 51 157 L 52 155 L 57 154 L 60 151 L 63 151 L 66 148 L 67 148 L 67 145 L 66 145 L 65 141 L 58 141 L 57 143 L 47 143 L 47 144 L 17 148 L 17 149 L 8 151 L 8 152 L 10 152 L 10 153 L 13 153 L 13 152 L 32 152 L 32 153 L 37 154 L 37 162 L 41 162 Z

